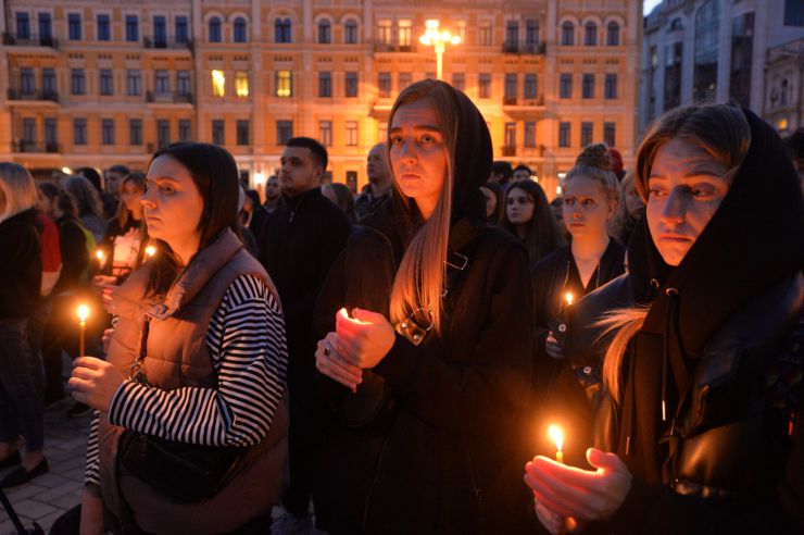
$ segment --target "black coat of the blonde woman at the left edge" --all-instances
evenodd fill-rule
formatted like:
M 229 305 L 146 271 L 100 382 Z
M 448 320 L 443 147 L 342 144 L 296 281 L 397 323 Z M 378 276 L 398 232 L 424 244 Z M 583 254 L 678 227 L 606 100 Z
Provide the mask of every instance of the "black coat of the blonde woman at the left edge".
M 0 223 L 0 320 L 27 318 L 39 301 L 40 227 L 29 209 Z

